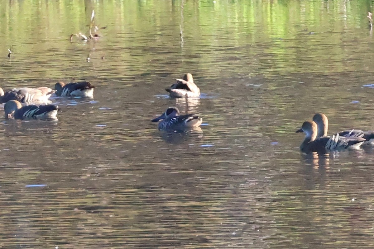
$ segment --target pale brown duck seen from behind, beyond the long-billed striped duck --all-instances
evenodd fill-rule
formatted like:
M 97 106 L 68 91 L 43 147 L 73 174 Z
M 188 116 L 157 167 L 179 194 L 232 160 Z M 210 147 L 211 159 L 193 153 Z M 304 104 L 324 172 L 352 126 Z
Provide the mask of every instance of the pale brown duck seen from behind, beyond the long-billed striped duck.
M 176 81 L 177 82 L 172 84 L 171 87 L 165 89 L 170 97 L 200 97 L 200 89 L 193 82 L 192 74 L 185 74 L 183 79 L 177 79 Z

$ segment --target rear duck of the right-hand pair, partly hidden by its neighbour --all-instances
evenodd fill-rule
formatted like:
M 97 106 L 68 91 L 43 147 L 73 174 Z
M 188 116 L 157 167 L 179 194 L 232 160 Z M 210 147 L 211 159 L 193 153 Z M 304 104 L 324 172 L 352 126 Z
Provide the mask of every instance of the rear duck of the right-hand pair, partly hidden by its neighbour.
M 317 137 L 327 136 L 328 131 L 328 119 L 324 113 L 316 113 L 313 116 L 313 121 L 316 122 L 318 127 Z M 362 131 L 358 129 L 340 131 L 339 136 L 342 137 L 363 137 L 365 138 L 365 144 L 374 143 L 374 131 Z

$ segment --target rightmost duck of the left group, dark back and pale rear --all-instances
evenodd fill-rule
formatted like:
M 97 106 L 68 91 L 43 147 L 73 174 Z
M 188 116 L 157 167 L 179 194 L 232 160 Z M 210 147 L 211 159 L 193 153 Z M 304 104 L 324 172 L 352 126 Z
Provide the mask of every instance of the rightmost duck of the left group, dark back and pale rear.
M 95 87 L 91 85 L 89 81 L 72 82 L 65 84 L 59 81 L 55 84 L 55 90 L 57 96 L 78 96 L 78 97 L 93 97 L 93 89 Z

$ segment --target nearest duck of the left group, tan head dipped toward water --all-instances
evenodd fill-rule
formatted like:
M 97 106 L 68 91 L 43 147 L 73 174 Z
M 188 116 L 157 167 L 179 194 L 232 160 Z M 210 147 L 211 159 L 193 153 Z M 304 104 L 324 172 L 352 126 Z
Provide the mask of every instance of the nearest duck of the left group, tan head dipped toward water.
M 17 100 L 9 100 L 4 105 L 5 119 L 56 119 L 58 110 L 56 105 L 22 106 Z

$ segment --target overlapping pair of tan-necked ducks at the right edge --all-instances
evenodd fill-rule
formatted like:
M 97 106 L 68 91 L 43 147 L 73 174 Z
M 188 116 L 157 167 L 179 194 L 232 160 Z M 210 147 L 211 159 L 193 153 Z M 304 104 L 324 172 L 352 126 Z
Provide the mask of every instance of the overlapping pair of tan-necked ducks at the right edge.
M 300 149 L 303 152 L 327 152 L 328 150 L 357 149 L 364 142 L 374 139 L 374 131 L 346 130 L 327 137 L 328 119 L 316 113 L 311 121 L 305 121 L 296 133 L 305 133 Z

